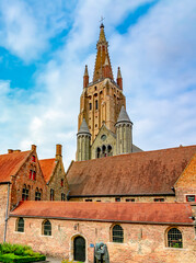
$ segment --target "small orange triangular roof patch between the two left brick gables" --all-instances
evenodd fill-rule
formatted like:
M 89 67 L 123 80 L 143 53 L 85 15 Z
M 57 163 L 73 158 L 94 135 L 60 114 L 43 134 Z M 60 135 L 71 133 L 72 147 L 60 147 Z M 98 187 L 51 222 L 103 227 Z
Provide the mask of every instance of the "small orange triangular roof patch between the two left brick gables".
M 56 167 L 56 159 L 55 158 L 43 159 L 43 160 L 39 160 L 39 164 L 43 171 L 44 179 L 46 183 L 48 183 L 53 175 L 54 169 Z

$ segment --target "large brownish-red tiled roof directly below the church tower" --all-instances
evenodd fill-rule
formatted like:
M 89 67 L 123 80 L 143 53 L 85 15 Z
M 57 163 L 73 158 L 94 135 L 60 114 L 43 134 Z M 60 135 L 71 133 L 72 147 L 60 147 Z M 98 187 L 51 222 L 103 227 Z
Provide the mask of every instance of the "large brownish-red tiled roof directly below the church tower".
M 171 187 L 195 152 L 188 146 L 73 162 L 70 196 L 174 194 Z

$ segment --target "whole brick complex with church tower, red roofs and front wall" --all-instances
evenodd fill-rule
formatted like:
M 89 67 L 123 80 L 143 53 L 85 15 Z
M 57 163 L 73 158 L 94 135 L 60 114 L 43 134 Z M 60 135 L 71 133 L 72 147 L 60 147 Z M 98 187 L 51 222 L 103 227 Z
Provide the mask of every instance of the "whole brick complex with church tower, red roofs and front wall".
M 99 242 L 111 263 L 194 262 L 196 146 L 145 152 L 132 144 L 107 47 L 102 24 L 93 81 L 88 67 L 83 76 L 78 160 L 67 174 L 60 145 L 51 159 L 38 160 L 35 146 L 0 156 L 0 241 L 85 263 Z

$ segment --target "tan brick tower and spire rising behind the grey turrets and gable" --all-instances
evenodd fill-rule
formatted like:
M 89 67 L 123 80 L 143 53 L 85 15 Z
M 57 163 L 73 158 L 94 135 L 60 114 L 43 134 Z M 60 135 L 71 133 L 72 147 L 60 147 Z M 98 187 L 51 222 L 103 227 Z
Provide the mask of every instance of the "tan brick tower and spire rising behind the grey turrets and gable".
M 109 130 L 116 133 L 115 124 L 122 105 L 125 105 L 120 70 L 118 68 L 117 79 L 115 81 L 108 54 L 108 43 L 105 37 L 103 24 L 100 26 L 100 37 L 96 49 L 93 81 L 90 83 L 88 66 L 85 66 L 78 119 L 79 130 L 83 117 L 85 118 L 92 135 L 91 144 L 96 138 L 103 124 L 105 124 Z

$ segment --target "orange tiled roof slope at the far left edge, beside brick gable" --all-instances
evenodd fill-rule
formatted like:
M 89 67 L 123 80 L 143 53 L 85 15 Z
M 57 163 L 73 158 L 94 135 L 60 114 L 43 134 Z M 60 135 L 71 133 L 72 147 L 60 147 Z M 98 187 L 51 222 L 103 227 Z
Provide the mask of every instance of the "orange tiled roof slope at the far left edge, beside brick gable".
M 12 152 L 0 156 L 0 183 L 10 182 L 31 151 Z

